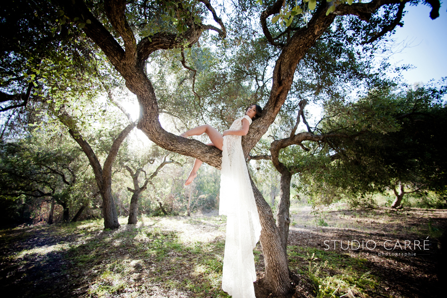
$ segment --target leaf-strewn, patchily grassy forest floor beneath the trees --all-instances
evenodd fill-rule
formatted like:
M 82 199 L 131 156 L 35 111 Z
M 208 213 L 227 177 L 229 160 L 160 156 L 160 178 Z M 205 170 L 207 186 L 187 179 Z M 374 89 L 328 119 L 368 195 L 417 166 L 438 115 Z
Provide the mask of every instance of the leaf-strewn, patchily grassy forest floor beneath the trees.
M 297 205 L 291 220 L 293 297 L 445 297 L 438 296 L 436 262 L 447 210 L 336 204 L 314 214 Z M 126 223 L 120 218 L 117 230 L 103 230 L 102 221 L 1 229 L 1 296 L 228 297 L 220 287 L 224 217 Z M 254 254 L 262 278 L 260 244 Z

